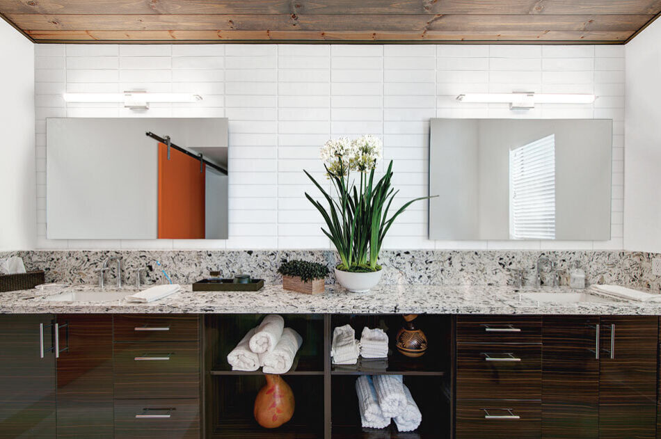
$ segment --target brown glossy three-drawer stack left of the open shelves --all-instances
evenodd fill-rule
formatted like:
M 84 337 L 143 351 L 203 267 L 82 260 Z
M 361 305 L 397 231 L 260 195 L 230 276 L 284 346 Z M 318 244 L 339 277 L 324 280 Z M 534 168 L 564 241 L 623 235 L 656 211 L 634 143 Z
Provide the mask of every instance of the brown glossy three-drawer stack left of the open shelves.
M 200 319 L 117 315 L 115 438 L 200 438 Z

